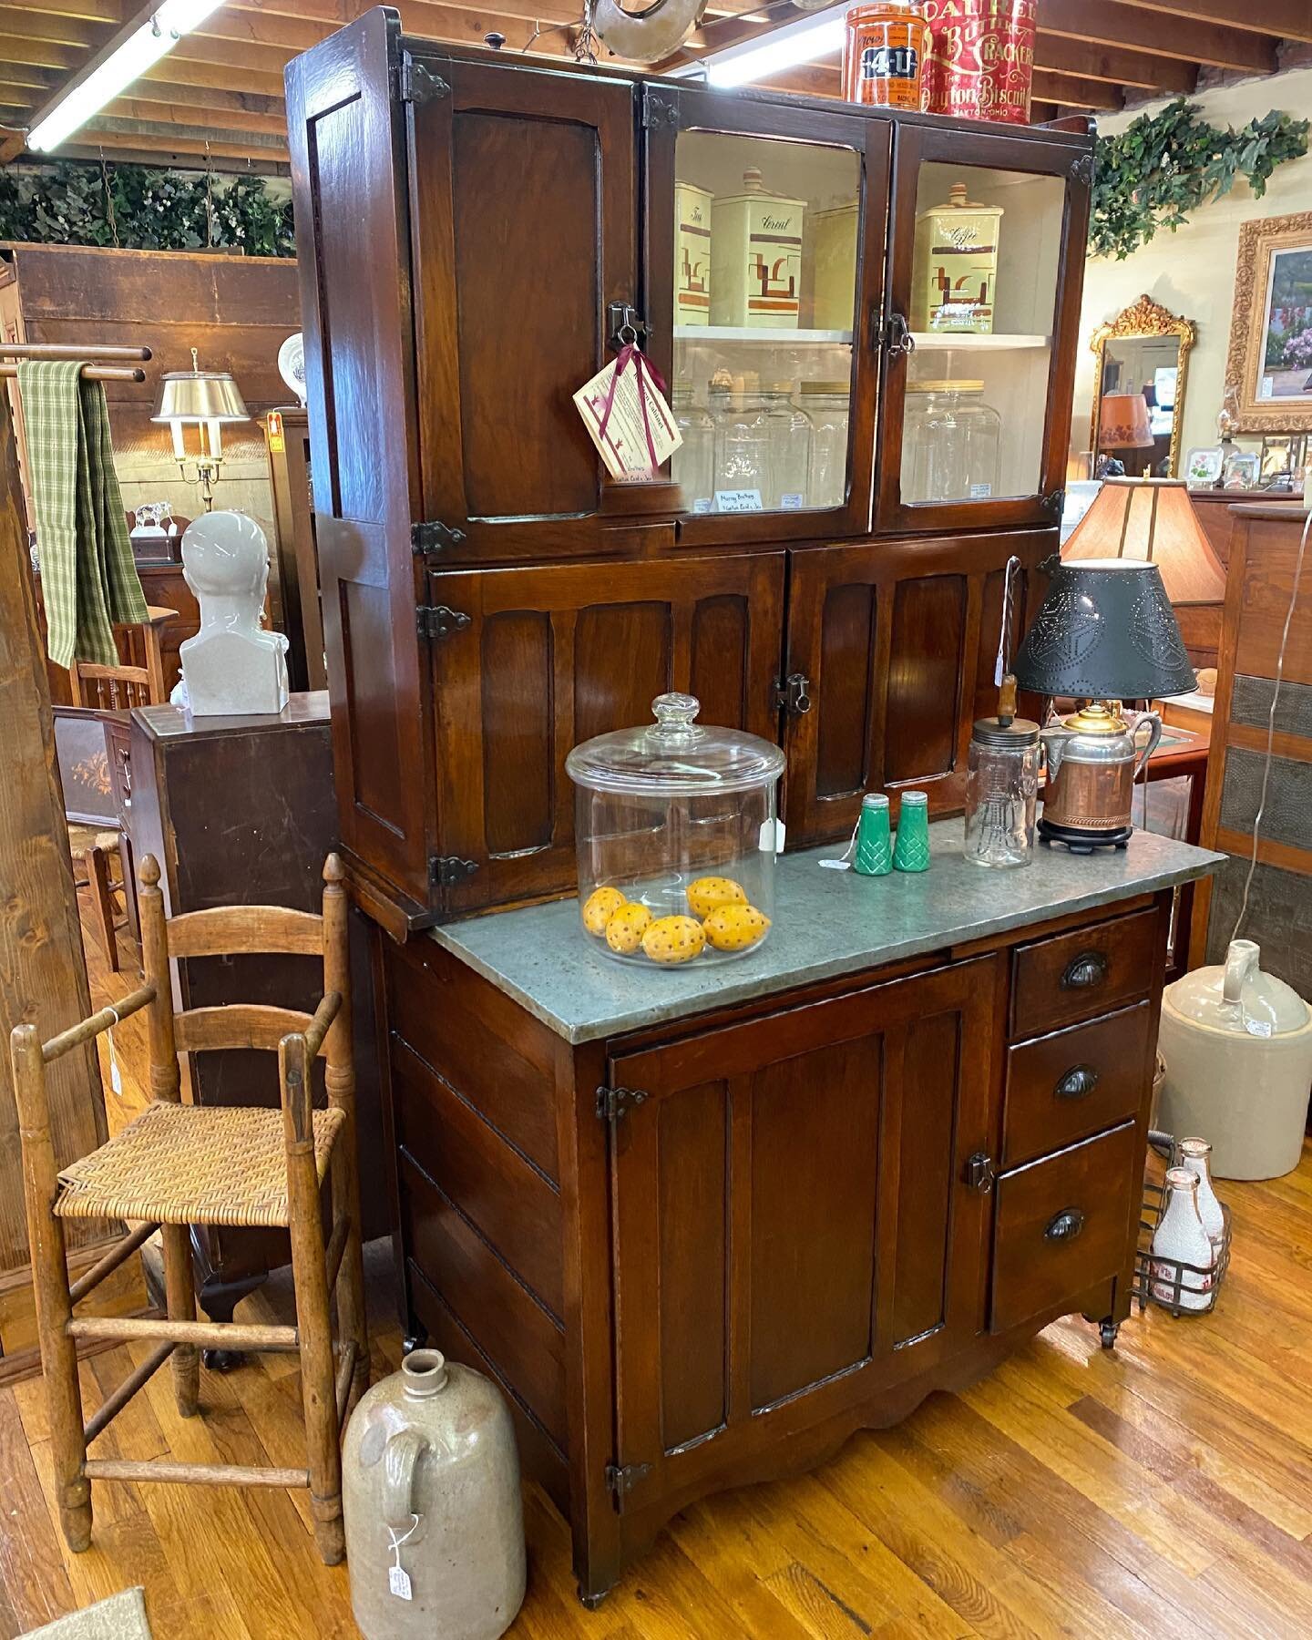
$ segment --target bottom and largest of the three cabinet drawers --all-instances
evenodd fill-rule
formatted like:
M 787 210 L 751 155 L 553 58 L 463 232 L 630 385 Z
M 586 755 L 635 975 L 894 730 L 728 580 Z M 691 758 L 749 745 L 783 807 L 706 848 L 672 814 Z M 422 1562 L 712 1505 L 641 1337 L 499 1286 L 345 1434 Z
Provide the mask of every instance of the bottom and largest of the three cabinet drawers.
M 1138 1220 L 1141 1140 L 1125 1122 L 997 1181 L 992 1330 L 1118 1274 Z

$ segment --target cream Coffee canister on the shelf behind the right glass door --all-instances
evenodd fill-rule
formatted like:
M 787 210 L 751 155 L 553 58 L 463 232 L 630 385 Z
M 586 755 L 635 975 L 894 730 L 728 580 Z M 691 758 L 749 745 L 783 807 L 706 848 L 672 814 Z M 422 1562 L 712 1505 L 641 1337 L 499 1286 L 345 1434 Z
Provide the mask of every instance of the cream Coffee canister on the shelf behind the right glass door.
M 969 200 L 964 182 L 918 213 L 912 330 L 992 331 L 1000 226 L 1002 207 Z

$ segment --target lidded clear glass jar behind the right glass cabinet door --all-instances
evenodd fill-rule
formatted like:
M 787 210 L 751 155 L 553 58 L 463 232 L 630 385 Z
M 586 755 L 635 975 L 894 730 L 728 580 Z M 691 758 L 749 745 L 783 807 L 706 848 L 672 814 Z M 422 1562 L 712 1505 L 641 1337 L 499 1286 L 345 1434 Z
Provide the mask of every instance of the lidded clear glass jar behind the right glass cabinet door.
M 905 502 L 984 500 L 997 494 L 1002 418 L 982 395 L 984 382 L 907 382 Z

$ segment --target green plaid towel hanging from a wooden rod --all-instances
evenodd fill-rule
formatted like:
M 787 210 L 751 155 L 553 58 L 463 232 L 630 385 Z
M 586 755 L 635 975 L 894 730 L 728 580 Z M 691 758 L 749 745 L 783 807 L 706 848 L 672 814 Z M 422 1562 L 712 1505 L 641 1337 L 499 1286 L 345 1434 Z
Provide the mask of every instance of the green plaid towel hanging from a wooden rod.
M 105 389 L 80 372 L 77 359 L 18 361 L 46 648 L 56 666 L 116 666 L 115 625 L 149 617 L 113 469 Z

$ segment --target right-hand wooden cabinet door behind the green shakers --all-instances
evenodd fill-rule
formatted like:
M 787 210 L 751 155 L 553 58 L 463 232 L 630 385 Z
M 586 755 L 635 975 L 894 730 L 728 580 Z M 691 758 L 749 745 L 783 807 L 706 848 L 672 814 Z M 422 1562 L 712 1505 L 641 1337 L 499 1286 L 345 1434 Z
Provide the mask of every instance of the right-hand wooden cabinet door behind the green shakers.
M 789 843 L 845 836 L 861 794 L 928 792 L 959 809 L 971 725 L 997 710 L 994 667 L 1009 558 L 1022 563 L 1012 653 L 1053 531 L 887 541 L 794 553 L 787 674 L 810 708 L 786 722 Z

